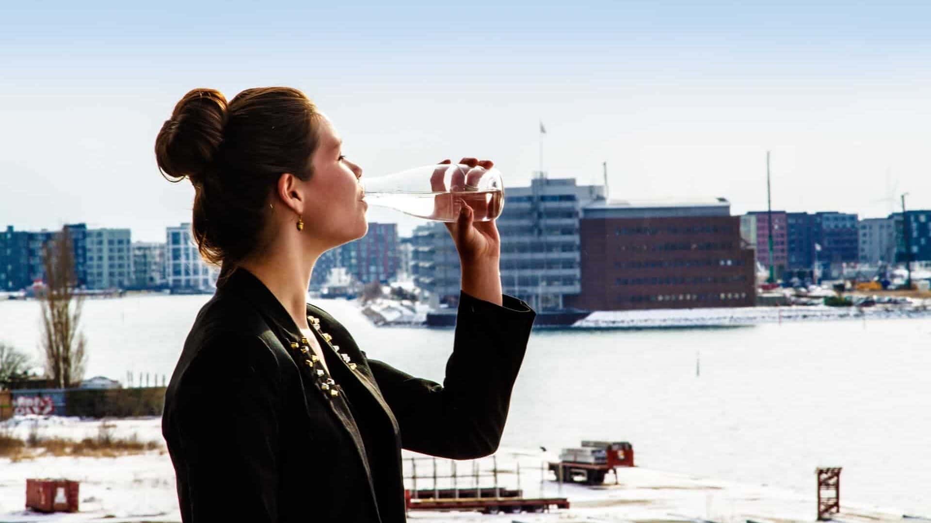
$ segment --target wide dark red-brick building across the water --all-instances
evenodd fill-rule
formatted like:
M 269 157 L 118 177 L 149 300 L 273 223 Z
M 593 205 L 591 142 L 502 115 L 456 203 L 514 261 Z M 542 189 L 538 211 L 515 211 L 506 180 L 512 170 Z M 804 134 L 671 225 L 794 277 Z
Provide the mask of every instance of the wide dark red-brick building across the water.
M 740 217 L 719 200 L 692 206 L 586 208 L 580 221 L 582 292 L 569 306 L 588 311 L 750 307 L 756 302 L 752 249 Z

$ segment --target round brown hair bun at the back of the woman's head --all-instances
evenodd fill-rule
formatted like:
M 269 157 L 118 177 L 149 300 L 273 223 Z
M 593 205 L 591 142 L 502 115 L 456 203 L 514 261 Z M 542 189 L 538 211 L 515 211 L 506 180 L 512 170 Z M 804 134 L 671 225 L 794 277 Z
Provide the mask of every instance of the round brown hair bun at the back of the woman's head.
M 155 161 L 169 177 L 199 185 L 223 141 L 226 98 L 216 89 L 193 89 L 175 105 L 155 139 Z

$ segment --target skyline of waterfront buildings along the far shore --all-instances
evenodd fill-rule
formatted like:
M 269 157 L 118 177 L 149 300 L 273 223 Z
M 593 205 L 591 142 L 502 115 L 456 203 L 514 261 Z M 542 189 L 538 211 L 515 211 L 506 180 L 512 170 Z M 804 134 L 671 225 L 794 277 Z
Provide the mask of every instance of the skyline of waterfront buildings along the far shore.
M 848 268 L 890 278 L 897 262 L 931 260 L 931 210 L 863 221 L 836 211 L 733 215 L 723 199 L 609 202 L 603 186 L 574 179 L 534 180 L 511 190 L 506 202 L 502 285 L 541 311 L 752 306 L 763 266 L 774 283 L 798 285 L 844 277 Z M 460 268 L 442 223 L 417 227 L 410 238 L 398 238 L 396 223 L 369 225 L 369 234 L 317 260 L 312 288 L 329 287 L 334 267 L 343 269 L 334 282 L 349 282 L 347 275 L 362 284 L 386 282 L 403 273 L 429 292 L 431 307 L 455 302 Z M 166 227 L 165 244 L 132 242 L 126 228 L 72 223 L 68 229 L 77 281 L 88 290 L 204 292 L 217 275 L 197 252 L 190 223 Z M 774 238 L 767 248 L 769 234 Z M 42 279 L 43 246 L 55 237 L 7 226 L 0 235 L 0 286 L 17 291 Z M 438 321 L 452 316 L 443 317 Z

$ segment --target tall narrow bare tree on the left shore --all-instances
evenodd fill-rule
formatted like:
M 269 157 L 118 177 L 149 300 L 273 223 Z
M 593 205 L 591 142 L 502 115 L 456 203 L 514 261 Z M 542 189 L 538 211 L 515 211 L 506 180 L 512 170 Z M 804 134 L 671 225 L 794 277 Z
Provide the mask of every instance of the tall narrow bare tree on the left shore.
M 84 376 L 85 338 L 78 324 L 84 299 L 74 293 L 74 248 L 67 227 L 43 247 L 45 288 L 42 303 L 42 348 L 46 373 L 59 388 L 67 388 Z

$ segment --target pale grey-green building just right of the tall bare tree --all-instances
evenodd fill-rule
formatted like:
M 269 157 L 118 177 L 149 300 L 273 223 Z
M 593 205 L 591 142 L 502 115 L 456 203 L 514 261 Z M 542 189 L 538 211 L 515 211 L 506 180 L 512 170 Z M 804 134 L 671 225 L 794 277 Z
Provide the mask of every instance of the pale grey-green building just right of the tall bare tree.
M 128 288 L 132 285 L 129 229 L 88 229 L 85 270 L 88 288 Z

